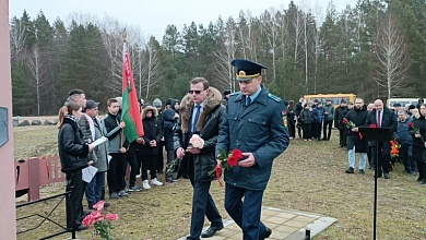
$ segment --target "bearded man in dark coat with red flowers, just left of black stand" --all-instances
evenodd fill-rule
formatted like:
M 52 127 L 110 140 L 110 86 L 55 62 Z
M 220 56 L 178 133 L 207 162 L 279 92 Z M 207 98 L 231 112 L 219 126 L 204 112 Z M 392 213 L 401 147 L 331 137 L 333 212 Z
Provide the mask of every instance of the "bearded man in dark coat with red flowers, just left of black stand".
M 355 172 L 355 153 L 359 153 L 358 171 L 362 175 L 365 173 L 368 141 L 363 139 L 358 127 L 365 125 L 367 115 L 367 106 L 365 106 L 364 100 L 362 98 L 356 98 L 355 107 L 350 110 L 345 117 L 350 125 L 353 123 L 350 128 L 347 128 L 347 158 L 350 167 L 347 168 L 346 173 Z

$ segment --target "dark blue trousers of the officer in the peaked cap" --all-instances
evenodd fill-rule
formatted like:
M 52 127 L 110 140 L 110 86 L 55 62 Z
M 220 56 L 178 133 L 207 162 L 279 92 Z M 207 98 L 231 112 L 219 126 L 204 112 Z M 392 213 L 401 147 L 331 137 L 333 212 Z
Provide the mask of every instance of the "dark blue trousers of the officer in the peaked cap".
M 244 197 L 244 202 L 242 202 Z M 225 209 L 242 229 L 244 240 L 258 240 L 267 231 L 260 221 L 263 191 L 236 188 L 226 183 Z

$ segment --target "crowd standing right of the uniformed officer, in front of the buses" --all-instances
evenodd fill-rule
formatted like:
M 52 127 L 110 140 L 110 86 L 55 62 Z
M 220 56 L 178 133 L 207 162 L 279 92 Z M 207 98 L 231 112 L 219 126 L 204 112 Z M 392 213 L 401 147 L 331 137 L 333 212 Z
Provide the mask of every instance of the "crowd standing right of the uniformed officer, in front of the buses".
M 375 169 L 377 165 L 377 178 L 390 179 L 394 164 L 401 163 L 406 175 L 418 173 L 417 181 L 426 184 L 425 106 L 423 98 L 418 99 L 416 106 L 397 103 L 393 108 L 388 108 L 381 99 L 366 104 L 358 97 L 355 103 L 342 99 L 334 109 L 331 99 L 323 105 L 318 100 L 305 101 L 300 97 L 296 105 L 288 107 L 287 125 L 291 137 L 329 141 L 334 122 L 334 128 L 339 130 L 340 147 L 347 149 L 346 173 L 355 173 L 355 155 L 358 153 L 358 173 L 365 173 L 368 163 L 369 169 Z M 389 129 L 390 141 L 369 141 L 363 137 L 363 128 Z

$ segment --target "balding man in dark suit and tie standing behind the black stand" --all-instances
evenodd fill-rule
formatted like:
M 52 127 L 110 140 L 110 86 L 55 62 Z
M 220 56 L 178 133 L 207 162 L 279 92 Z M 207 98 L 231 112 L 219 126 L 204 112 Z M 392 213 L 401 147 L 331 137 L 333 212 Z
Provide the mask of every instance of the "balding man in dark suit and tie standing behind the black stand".
M 367 127 L 370 124 L 376 124 L 377 128 L 389 128 L 391 134 L 395 135 L 398 125 L 397 116 L 393 113 L 392 110 L 383 106 L 383 101 L 381 99 L 377 99 L 375 100 L 375 109 L 372 109 L 372 111 L 368 113 L 368 118 L 365 124 Z M 390 143 L 388 141 L 379 141 L 378 147 L 379 149 L 382 149 L 382 154 L 378 156 L 379 159 L 376 159 L 376 154 L 371 155 L 372 165 L 374 167 L 376 167 L 376 164 L 378 164 L 378 178 L 381 178 L 381 175 L 383 173 L 384 178 L 389 179 L 389 171 L 391 170 Z M 376 153 L 376 142 L 374 143 L 374 146 L 371 148 L 372 153 Z

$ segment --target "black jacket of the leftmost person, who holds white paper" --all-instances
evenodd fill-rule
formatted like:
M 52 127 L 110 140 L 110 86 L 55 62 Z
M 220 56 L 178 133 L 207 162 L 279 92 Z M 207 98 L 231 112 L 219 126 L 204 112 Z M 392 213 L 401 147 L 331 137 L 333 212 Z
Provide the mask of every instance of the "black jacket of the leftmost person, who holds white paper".
M 68 116 L 63 118 L 58 133 L 58 148 L 62 172 L 76 172 L 88 166 L 88 146 L 84 143 L 83 133 L 76 122 Z

